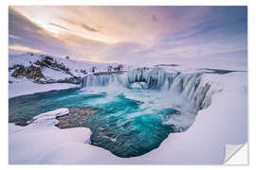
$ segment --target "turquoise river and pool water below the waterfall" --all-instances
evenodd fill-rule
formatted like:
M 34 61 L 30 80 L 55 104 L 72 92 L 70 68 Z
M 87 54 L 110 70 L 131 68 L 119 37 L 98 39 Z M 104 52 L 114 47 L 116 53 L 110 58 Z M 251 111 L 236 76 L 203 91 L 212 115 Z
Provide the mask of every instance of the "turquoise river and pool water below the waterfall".
M 98 110 L 82 124 L 92 131 L 91 144 L 119 157 L 136 157 L 155 149 L 176 131 L 175 125 L 164 122 L 182 112 L 159 97 L 159 92 L 150 90 L 103 88 L 28 94 L 9 99 L 9 122 L 25 122 L 49 110 L 87 106 Z

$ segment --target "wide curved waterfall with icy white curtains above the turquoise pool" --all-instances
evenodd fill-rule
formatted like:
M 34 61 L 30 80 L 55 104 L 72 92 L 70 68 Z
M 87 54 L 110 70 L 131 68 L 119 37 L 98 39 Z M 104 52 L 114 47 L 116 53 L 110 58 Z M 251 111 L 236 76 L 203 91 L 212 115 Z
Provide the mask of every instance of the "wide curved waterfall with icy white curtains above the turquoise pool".
M 122 75 L 100 74 L 82 78 L 82 88 L 91 86 L 115 86 L 115 83 L 127 88 L 158 89 L 178 93 L 189 101 L 194 110 L 210 106 L 211 95 L 215 93 L 203 73 L 167 73 L 163 68 L 136 68 Z

